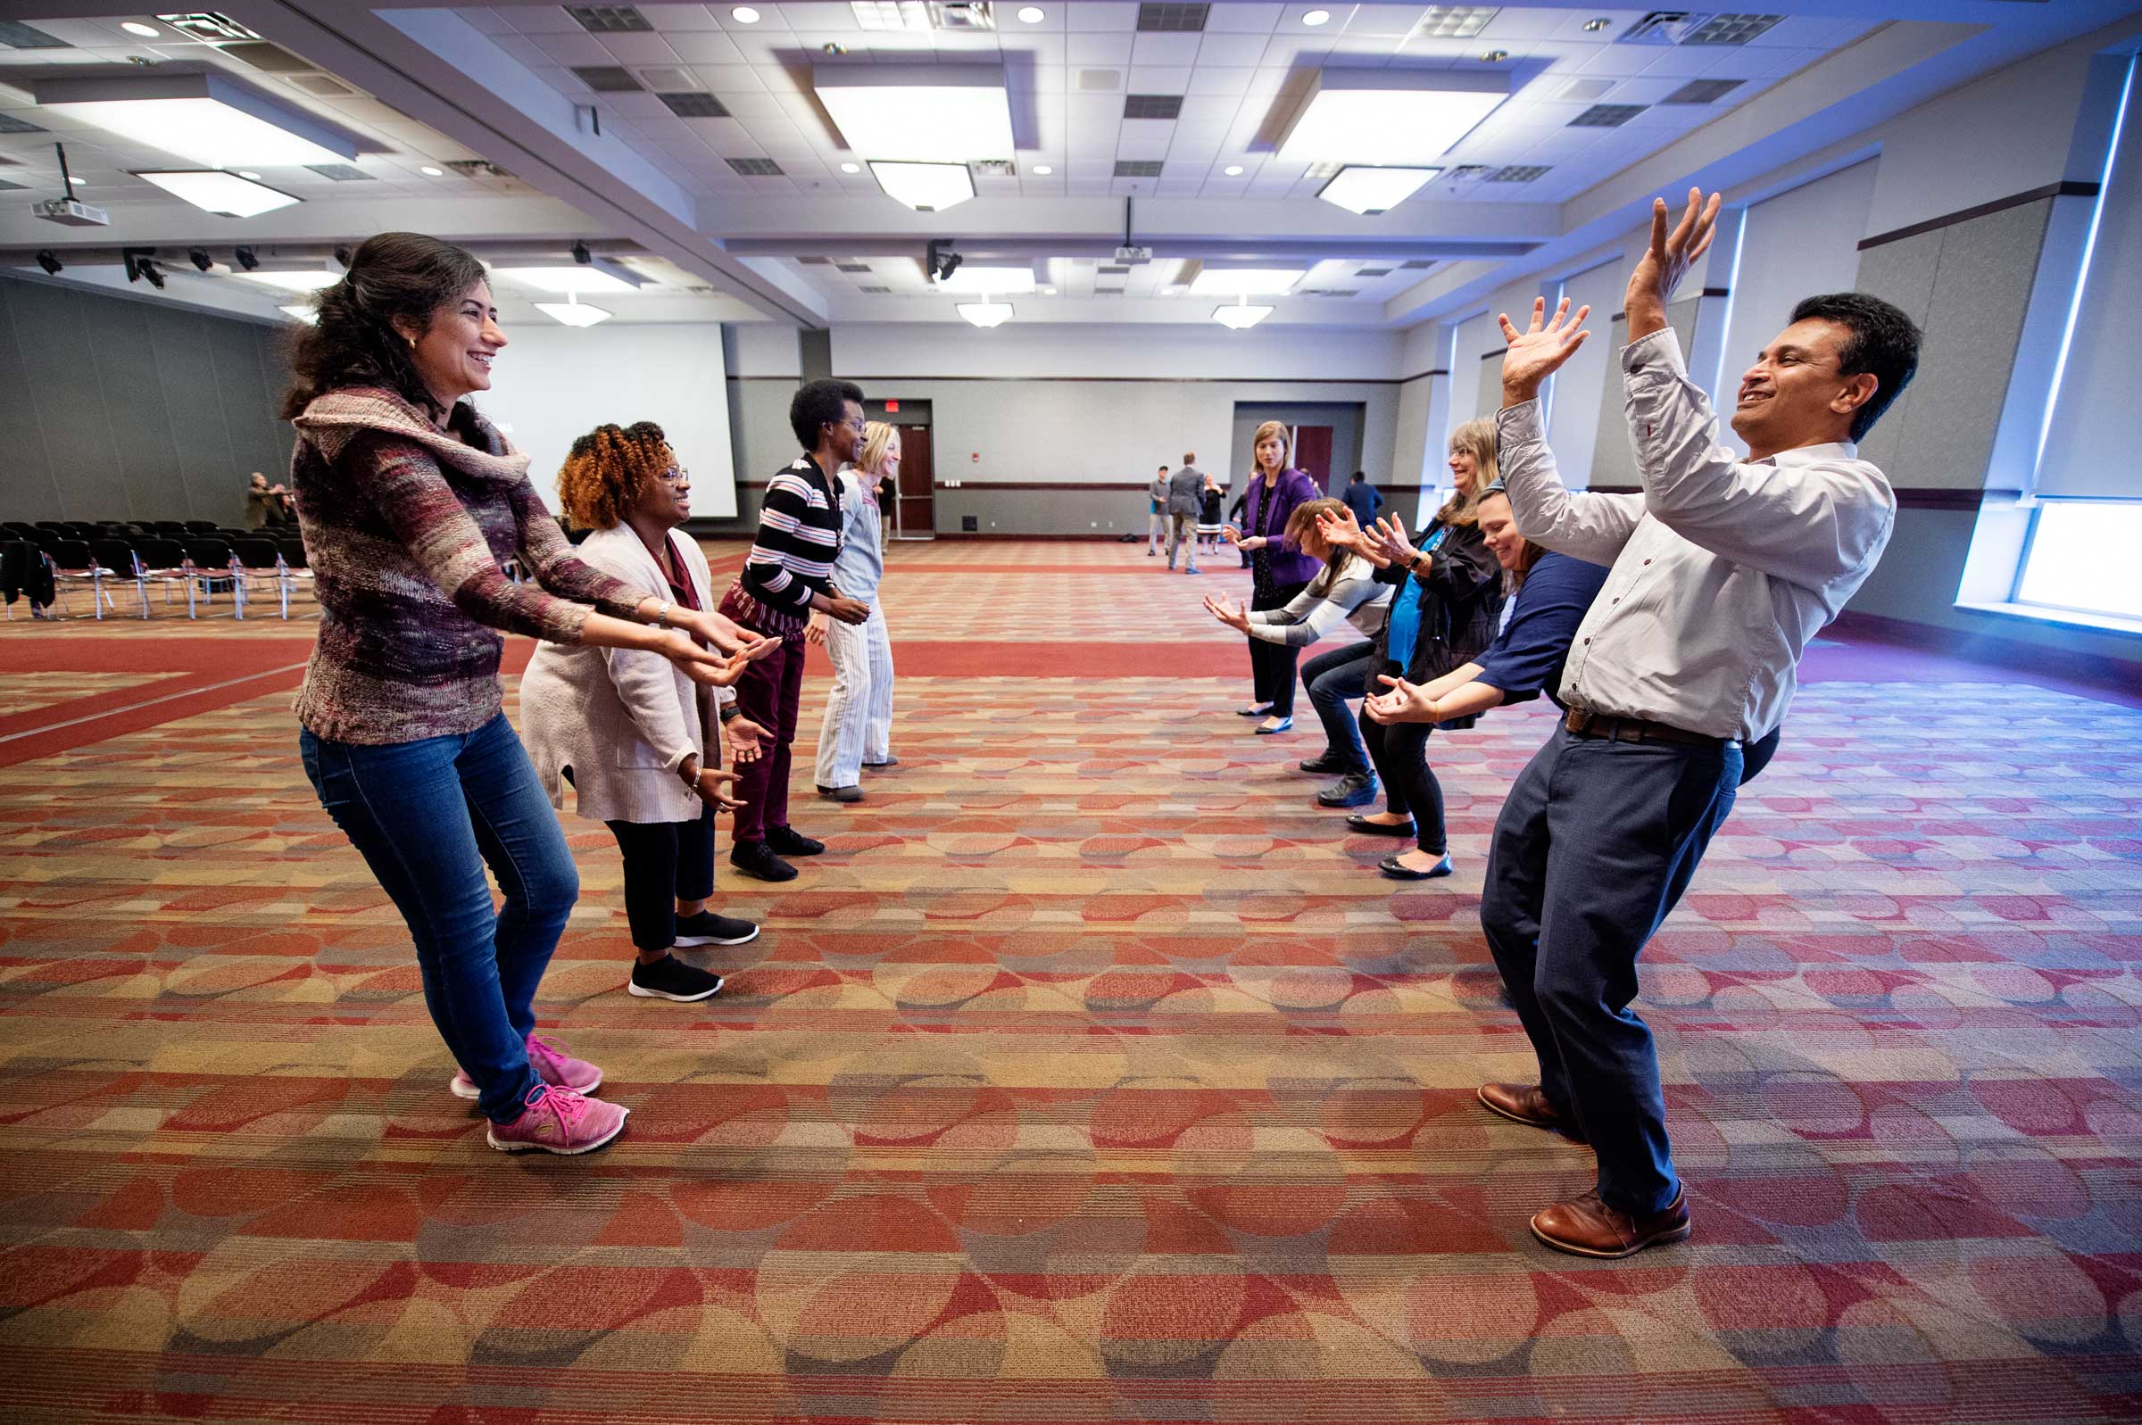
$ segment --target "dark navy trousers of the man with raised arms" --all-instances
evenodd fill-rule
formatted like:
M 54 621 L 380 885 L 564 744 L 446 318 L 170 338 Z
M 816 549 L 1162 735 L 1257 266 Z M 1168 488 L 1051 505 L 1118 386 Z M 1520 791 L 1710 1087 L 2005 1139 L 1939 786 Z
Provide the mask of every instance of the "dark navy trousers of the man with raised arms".
M 1634 1011 L 1636 954 L 1733 810 L 1741 748 L 1606 741 L 1555 729 L 1495 819 L 1480 894 L 1495 969 L 1540 1056 L 1540 1089 L 1632 1215 L 1681 1191 L 1658 1048 Z

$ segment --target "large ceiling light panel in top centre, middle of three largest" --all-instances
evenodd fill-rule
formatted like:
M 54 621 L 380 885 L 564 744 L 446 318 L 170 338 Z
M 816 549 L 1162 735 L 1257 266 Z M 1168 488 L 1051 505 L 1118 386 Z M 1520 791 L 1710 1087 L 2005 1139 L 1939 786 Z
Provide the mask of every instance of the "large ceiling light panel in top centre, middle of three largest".
M 863 159 L 970 163 L 1013 156 L 1005 71 L 972 64 L 812 69 L 818 103 Z

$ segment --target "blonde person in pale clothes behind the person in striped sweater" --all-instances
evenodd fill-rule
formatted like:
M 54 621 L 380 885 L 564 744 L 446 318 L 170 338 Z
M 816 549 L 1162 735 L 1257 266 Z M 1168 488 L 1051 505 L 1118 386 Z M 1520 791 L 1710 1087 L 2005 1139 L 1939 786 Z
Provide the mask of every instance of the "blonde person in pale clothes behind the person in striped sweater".
M 833 585 L 870 604 L 861 624 L 833 624 L 812 615 L 803 634 L 823 643 L 833 660 L 833 690 L 818 729 L 818 795 L 831 801 L 863 799 L 863 767 L 893 767 L 893 641 L 878 606 L 885 544 L 878 489 L 900 489 L 900 431 L 872 420 L 863 426 L 861 467 L 840 471 L 842 534 L 833 557 Z

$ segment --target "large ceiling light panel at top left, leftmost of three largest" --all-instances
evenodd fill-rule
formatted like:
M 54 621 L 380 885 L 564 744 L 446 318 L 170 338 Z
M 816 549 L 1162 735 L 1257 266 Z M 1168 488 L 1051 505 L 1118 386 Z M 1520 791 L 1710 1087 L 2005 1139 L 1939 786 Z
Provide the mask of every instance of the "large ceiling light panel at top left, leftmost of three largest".
M 43 79 L 34 88 L 41 109 L 69 114 L 201 167 L 298 167 L 358 156 L 358 146 L 345 135 L 221 75 Z

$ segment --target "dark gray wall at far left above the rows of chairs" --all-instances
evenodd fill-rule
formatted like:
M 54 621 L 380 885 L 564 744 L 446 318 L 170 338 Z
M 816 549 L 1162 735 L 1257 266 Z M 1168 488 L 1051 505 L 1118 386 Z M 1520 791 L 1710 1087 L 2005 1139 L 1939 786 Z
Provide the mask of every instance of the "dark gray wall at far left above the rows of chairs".
M 9 519 L 244 514 L 281 478 L 281 330 L 0 276 L 0 508 Z

